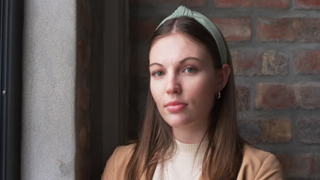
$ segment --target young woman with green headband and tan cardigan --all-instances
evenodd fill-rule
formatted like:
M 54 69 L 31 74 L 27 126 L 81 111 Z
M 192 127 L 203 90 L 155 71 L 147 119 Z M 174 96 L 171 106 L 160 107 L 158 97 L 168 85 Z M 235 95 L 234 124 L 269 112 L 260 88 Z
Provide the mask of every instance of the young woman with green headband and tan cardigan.
M 102 179 L 284 179 L 274 155 L 237 129 L 235 78 L 222 33 L 181 6 L 152 36 L 150 89 L 136 144 L 118 147 Z

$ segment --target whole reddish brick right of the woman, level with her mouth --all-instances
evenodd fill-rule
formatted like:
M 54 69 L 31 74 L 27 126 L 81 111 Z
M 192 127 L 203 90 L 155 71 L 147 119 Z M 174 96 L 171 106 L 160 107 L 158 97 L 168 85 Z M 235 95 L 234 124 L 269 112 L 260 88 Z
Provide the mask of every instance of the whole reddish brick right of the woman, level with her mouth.
M 259 83 L 256 86 L 257 109 L 295 108 L 295 92 L 291 85 Z

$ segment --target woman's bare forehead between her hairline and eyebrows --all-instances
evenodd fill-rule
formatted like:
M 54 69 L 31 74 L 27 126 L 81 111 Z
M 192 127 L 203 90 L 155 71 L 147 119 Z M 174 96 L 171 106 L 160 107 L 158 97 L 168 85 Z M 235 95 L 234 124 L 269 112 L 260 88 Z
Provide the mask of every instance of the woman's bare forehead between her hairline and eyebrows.
M 209 61 L 209 52 L 204 45 L 182 33 L 173 33 L 155 40 L 150 48 L 150 63 L 175 63 L 185 57 Z

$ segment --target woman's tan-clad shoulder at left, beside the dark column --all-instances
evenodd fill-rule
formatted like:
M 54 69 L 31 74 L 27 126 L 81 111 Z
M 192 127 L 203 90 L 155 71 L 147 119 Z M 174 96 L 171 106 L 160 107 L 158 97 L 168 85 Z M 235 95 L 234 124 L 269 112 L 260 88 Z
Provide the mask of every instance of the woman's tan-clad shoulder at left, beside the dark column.
M 134 148 L 135 144 L 117 147 L 107 160 L 101 179 L 108 180 L 115 177 L 123 179 L 125 167 L 129 163 Z

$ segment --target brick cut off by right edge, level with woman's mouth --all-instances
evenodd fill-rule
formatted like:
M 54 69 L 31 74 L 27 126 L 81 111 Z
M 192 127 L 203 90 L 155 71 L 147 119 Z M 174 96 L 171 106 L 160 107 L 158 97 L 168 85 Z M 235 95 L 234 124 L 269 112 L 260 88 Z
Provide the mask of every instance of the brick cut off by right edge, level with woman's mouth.
M 320 108 L 320 82 L 295 85 L 297 104 L 304 109 Z

